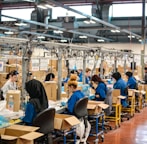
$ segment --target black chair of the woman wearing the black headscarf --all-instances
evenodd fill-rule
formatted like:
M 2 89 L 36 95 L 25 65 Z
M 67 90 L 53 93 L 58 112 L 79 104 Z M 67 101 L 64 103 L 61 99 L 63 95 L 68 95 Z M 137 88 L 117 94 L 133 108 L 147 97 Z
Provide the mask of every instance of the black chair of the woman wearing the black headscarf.
M 33 121 L 33 126 L 40 127 L 38 132 L 41 132 L 44 134 L 43 137 L 37 139 L 35 141 L 35 144 L 48 144 L 49 140 L 52 141 L 52 139 L 49 139 L 49 134 L 51 134 L 54 130 L 54 118 L 55 118 L 55 109 L 49 108 L 45 109 L 44 111 L 40 112 L 36 118 Z M 52 142 L 51 142 L 52 143 Z

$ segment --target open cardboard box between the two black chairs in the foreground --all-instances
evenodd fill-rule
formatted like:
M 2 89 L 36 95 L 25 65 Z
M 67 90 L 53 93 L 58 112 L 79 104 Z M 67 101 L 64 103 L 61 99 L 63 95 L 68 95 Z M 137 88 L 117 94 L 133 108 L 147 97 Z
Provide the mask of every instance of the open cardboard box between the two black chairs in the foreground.
M 55 114 L 54 128 L 58 130 L 68 130 L 80 124 L 80 121 L 73 115 Z

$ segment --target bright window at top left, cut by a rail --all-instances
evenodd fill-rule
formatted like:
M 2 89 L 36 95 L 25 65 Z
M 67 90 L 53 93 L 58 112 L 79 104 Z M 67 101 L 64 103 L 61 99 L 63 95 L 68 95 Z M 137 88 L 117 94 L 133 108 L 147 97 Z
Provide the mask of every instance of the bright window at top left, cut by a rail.
M 3 15 L 12 16 L 16 18 L 21 18 L 25 20 L 31 19 L 31 13 L 34 9 L 12 9 L 12 10 L 2 10 Z M 15 21 L 15 19 L 10 19 L 7 17 L 2 17 L 2 21 Z

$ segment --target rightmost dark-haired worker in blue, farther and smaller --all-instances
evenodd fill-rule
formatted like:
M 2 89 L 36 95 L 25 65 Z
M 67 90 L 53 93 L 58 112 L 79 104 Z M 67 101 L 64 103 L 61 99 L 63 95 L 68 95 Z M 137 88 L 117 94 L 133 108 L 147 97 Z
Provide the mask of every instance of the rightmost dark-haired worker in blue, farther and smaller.
M 127 81 L 127 86 L 129 89 L 136 89 L 137 87 L 137 82 L 136 82 L 136 79 L 133 77 L 133 74 L 132 72 L 126 72 L 126 76 L 128 78 L 128 81 Z

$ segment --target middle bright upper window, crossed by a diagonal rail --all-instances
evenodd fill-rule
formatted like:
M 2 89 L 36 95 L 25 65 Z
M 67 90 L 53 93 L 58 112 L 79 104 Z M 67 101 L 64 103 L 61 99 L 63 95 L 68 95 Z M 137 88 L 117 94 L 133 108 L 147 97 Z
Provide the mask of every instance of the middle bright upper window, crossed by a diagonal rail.
M 78 10 L 84 14 L 92 15 L 92 5 L 84 5 L 84 6 L 71 6 L 72 9 Z M 76 14 L 71 11 L 67 11 L 61 7 L 54 7 L 52 9 L 52 19 L 57 19 L 57 17 L 64 17 L 64 16 L 75 16 L 76 18 L 84 18 L 84 16 Z

